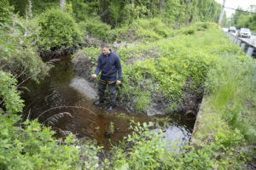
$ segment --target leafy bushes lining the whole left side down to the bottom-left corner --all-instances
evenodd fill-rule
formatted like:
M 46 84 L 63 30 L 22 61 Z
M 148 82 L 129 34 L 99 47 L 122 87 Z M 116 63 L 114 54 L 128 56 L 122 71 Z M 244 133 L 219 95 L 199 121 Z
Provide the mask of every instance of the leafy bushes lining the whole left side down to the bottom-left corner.
M 24 106 L 17 90 L 20 84 L 29 78 L 38 81 L 49 65 L 32 48 L 36 31 L 28 28 L 30 20 L 12 20 L 11 26 L 0 27 L 0 169 L 95 169 L 100 150 L 95 144 L 85 144 L 83 155 L 81 144 L 78 146 L 72 135 L 64 141 L 55 139 L 49 127 L 37 120 L 22 122 L 18 116 Z M 80 157 L 88 162 L 84 164 Z

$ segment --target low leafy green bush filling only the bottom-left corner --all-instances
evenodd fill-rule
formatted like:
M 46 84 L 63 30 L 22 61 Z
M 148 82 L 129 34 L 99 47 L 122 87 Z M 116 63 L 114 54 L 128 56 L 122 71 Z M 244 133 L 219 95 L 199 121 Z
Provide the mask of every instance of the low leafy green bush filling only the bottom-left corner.
M 80 159 L 82 150 L 69 135 L 63 142 L 53 138 L 49 127 L 42 127 L 37 121 L 26 121 L 22 128 L 15 126 L 18 116 L 0 116 L 0 168 L 1 169 L 78 169 L 85 168 Z M 62 143 L 62 144 L 61 144 Z M 88 162 L 86 167 L 95 168 L 95 152 L 86 144 Z M 93 148 L 95 151 L 98 147 Z M 94 161 L 93 165 L 90 165 Z M 90 166 L 89 166 L 90 165 Z

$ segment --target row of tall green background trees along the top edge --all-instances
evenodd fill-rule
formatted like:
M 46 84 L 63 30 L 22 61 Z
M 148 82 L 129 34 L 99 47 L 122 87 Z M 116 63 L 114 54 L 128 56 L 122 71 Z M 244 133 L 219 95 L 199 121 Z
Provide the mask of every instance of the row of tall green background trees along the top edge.
M 57 0 L 33 0 L 33 14 L 40 14 L 48 8 L 58 6 Z M 26 14 L 27 2 L 10 1 L 15 11 Z M 220 4 L 214 0 L 134 0 L 134 1 L 68 1 L 67 6 L 73 8 L 76 20 L 87 20 L 91 16 L 100 15 L 102 20 L 111 26 L 129 24 L 138 18 L 162 16 L 169 22 L 189 23 L 191 21 L 218 21 Z

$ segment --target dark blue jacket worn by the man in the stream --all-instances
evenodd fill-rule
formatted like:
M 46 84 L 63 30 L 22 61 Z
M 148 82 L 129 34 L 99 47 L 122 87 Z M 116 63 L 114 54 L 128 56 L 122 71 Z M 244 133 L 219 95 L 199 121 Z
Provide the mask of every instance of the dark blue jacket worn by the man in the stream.
M 119 56 L 114 54 L 110 50 L 110 54 L 101 54 L 98 58 L 98 64 L 95 74 L 98 75 L 102 71 L 102 80 L 115 81 L 118 71 L 118 80 L 121 81 L 122 78 L 122 67 L 120 63 Z

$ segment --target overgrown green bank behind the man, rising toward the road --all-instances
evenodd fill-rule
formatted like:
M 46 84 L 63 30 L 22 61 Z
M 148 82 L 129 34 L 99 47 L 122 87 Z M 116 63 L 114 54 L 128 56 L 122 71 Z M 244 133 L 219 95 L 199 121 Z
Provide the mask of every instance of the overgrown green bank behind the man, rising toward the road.
M 140 29 L 147 30 L 144 21 L 137 20 L 142 23 Z M 148 27 L 149 32 L 154 31 Z M 116 49 L 124 72 L 118 91 L 119 104 L 138 112 L 152 111 L 158 105 L 166 113 L 181 110 L 195 113 L 208 72 L 219 66 L 218 55 L 240 53 L 213 27 L 212 23 L 197 23 L 175 31 L 175 37 L 156 38 L 154 42 L 150 37 Z M 89 77 L 96 69 L 100 53 L 100 48 L 83 48 L 74 54 L 73 60 L 76 63 L 79 59 L 86 60 L 81 61 L 84 68 L 79 69 L 89 70 L 85 73 Z

